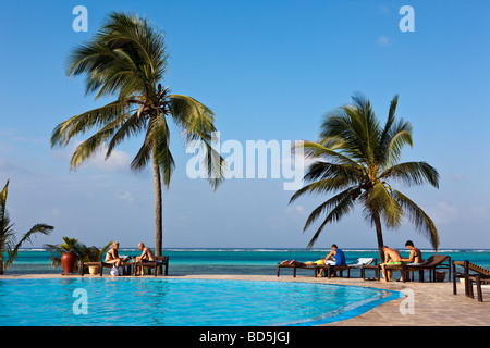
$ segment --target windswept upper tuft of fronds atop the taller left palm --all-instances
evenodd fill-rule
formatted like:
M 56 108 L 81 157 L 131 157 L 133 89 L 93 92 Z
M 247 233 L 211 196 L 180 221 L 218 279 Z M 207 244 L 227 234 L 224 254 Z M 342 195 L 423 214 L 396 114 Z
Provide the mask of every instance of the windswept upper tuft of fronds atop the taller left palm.
M 151 94 L 167 67 L 164 35 L 137 15 L 113 12 L 93 40 L 81 45 L 68 60 L 68 75 L 86 74 L 86 94 L 96 98 L 135 90 Z

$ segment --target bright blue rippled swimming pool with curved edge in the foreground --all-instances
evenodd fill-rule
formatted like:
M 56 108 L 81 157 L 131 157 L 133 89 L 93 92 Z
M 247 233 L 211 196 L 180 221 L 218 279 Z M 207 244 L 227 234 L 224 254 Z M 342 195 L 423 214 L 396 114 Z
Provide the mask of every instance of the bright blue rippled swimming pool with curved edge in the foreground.
M 175 278 L 1 279 L 1 326 L 317 325 L 400 293 L 313 283 Z

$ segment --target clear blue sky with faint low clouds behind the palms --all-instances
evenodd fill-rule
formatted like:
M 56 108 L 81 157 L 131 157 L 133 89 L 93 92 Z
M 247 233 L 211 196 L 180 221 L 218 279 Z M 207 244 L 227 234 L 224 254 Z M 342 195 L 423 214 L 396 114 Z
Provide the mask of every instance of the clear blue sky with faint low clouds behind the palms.
M 88 32 L 72 29 L 75 5 Z M 402 33 L 402 5 L 415 32 Z M 10 1 L 0 22 L 0 184 L 10 178 L 8 209 L 19 236 L 33 224 L 56 227 L 35 246 L 77 237 L 152 246 L 150 170 L 128 162 L 140 144 L 122 145 L 69 171 L 74 145 L 51 149 L 54 126 L 108 100 L 84 96 L 83 78 L 64 75 L 70 50 L 110 11 L 151 18 L 167 35 L 163 82 L 210 107 L 221 140 L 317 138 L 323 114 L 360 91 L 381 120 L 400 95 L 397 114 L 414 126 L 403 161 L 424 160 L 440 188 L 403 187 L 434 220 L 441 248 L 490 248 L 487 136 L 490 111 L 488 1 Z M 81 138 L 82 140 L 82 138 Z M 321 197 L 289 206 L 281 179 L 230 179 L 217 192 L 186 176 L 189 156 L 171 140 L 176 171 L 163 195 L 163 247 L 306 247 L 302 232 Z M 3 185 L 3 184 L 1 184 Z M 375 248 L 373 228 L 357 209 L 324 229 L 317 247 Z M 387 245 L 429 243 L 408 223 L 385 231 Z

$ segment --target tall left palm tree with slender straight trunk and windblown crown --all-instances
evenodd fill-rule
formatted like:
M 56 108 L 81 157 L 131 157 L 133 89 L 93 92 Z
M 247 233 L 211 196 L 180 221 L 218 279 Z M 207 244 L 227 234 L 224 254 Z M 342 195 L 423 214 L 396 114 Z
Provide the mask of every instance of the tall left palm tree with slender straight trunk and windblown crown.
M 157 256 L 161 256 L 162 248 L 161 179 L 168 189 L 174 170 L 169 147 L 170 119 L 187 144 L 200 141 L 204 166 L 215 190 L 224 178 L 224 160 L 211 147 L 215 114 L 194 98 L 172 95 L 169 87 L 162 88 L 167 58 L 164 34 L 149 21 L 133 14 L 109 14 L 94 38 L 73 50 L 66 74 L 85 74 L 86 94 L 97 91 L 96 99 L 102 96 L 117 99 L 60 123 L 51 136 L 51 146 L 66 146 L 77 135 L 98 129 L 73 153 L 71 170 L 76 170 L 101 146 L 107 146 L 107 159 L 120 142 L 144 134 L 131 169 L 137 172 L 152 163 Z

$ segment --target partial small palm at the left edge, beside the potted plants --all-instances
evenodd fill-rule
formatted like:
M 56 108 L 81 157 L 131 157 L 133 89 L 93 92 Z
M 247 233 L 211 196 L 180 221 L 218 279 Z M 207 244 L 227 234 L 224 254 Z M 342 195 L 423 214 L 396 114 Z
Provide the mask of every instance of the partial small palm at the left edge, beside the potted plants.
M 0 192 L 0 275 L 15 261 L 17 258 L 19 249 L 24 243 L 29 241 L 30 238 L 41 233 L 49 235 L 54 227 L 45 224 L 34 225 L 23 237 L 16 243 L 15 233 L 13 232 L 13 223 L 11 223 L 9 213 L 7 212 L 7 194 L 8 194 L 9 181 Z M 3 252 L 9 254 L 9 258 L 3 265 Z

